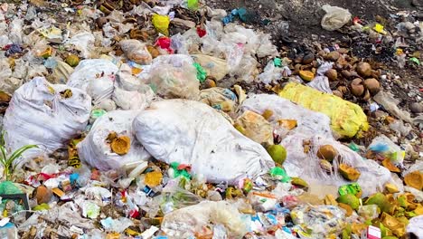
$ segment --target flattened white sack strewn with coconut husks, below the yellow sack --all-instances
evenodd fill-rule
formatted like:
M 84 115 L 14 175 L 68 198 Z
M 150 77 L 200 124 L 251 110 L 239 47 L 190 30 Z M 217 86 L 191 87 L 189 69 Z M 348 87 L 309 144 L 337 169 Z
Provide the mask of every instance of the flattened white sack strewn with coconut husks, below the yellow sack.
M 281 142 L 281 145 L 287 148 L 284 167 L 290 177 L 301 177 L 305 181 L 317 180 L 323 185 L 342 186 L 351 183 L 343 179 L 338 172 L 339 165 L 344 163 L 361 172 L 357 183 L 362 186 L 363 196 L 377 192 L 384 184 L 393 180 L 386 167 L 362 158 L 336 141 L 332 135 L 330 119 L 322 113 L 307 110 L 290 100 L 268 94 L 251 95 L 240 106 L 240 111 L 244 110 L 252 110 L 258 114 L 262 114 L 264 110 L 272 110 L 273 115 L 268 119 L 272 124 L 276 124 L 277 119 L 296 119 L 296 128 L 289 130 L 287 137 Z M 305 141 L 309 141 L 312 146 L 308 153 L 304 152 Z M 339 156 L 334 159 L 334 172 L 330 175 L 320 167 L 320 158 L 316 156 L 317 150 L 323 145 L 332 145 Z

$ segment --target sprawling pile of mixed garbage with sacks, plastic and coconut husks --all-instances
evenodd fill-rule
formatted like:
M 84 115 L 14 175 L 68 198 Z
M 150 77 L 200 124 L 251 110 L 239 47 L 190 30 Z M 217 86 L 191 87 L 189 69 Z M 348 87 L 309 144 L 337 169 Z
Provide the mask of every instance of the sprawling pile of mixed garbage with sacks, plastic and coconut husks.
M 324 30 L 351 21 L 323 9 Z M 1 237 L 423 237 L 421 96 L 410 114 L 380 63 L 277 46 L 260 21 L 197 0 L 1 4 Z

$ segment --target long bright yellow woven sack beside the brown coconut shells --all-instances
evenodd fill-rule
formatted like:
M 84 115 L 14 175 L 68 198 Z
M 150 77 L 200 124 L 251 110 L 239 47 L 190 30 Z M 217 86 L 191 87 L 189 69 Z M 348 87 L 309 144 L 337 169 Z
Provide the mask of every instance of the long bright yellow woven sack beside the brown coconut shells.
M 369 129 L 367 117 L 362 108 L 337 96 L 317 91 L 294 82 L 288 83 L 279 96 L 317 112 L 331 119 L 331 128 L 339 137 L 354 137 Z

